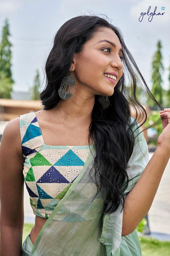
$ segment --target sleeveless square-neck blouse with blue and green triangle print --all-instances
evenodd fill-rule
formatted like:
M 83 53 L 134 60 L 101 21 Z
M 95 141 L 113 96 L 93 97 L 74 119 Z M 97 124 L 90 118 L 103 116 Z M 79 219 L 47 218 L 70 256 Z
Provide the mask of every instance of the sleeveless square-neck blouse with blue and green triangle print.
M 36 216 L 48 218 L 82 170 L 90 148 L 46 145 L 35 112 L 19 117 L 23 179 L 31 208 Z

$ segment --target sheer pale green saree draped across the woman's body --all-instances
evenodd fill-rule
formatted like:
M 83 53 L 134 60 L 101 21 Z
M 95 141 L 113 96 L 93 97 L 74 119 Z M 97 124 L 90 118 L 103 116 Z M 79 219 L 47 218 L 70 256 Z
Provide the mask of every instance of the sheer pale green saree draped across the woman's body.
M 135 119 L 131 117 L 132 120 Z M 137 122 L 133 129 L 136 126 L 139 126 Z M 138 131 L 141 129 L 135 131 L 135 136 Z M 63 199 L 40 230 L 30 255 L 141 256 L 137 231 L 121 236 L 121 205 L 112 214 L 101 214 L 104 209 L 102 194 L 100 191 L 95 197 L 97 188 L 92 182 L 94 172 L 91 172 L 92 179 L 89 175 L 95 157 L 94 144 L 90 145 L 90 149 L 83 169 L 72 185 L 69 185 Z M 134 150 L 128 162 L 129 183 L 124 193 L 132 190 L 148 161 L 147 142 L 140 133 L 135 139 Z

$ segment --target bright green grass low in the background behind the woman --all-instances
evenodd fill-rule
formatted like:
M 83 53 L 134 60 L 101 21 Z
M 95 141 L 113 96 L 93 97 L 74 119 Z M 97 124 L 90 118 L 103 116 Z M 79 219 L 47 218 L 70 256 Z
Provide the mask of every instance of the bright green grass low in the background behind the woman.
M 22 243 L 26 239 L 34 224 L 24 223 Z M 139 237 L 142 256 L 169 256 L 170 242 L 163 242 L 153 238 Z

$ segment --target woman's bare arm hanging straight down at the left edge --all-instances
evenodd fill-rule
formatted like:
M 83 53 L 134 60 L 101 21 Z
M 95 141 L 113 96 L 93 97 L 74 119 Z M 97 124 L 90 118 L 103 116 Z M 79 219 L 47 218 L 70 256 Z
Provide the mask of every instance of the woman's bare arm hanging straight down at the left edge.
M 24 223 L 23 162 L 19 117 L 6 125 L 0 144 L 0 255 L 21 255 Z

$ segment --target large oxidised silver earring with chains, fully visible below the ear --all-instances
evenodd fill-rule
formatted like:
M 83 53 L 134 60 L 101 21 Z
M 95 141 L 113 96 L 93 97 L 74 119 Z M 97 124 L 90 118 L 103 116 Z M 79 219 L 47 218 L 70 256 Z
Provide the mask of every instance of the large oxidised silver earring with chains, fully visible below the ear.
M 73 90 L 76 85 L 76 81 L 74 77 L 72 76 L 72 71 L 71 75 L 67 75 L 63 78 L 63 81 L 61 82 L 60 89 L 58 89 L 58 95 L 63 99 L 63 100 L 68 100 L 73 96 Z M 69 86 L 68 91 L 66 91 L 67 86 Z

